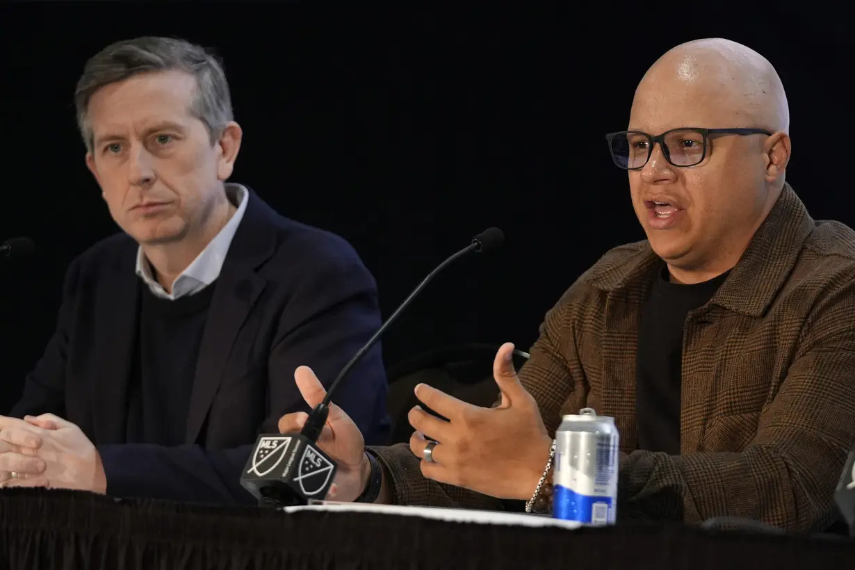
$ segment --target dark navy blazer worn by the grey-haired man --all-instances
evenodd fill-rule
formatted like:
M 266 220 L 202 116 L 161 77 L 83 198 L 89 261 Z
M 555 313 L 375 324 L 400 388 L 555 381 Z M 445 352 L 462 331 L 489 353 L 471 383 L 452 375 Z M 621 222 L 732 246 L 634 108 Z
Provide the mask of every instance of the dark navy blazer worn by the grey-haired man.
M 141 287 L 137 244 L 104 239 L 68 268 L 56 332 L 11 412 L 53 413 L 97 445 L 114 497 L 253 502 L 239 484 L 259 433 L 306 411 L 294 370 L 329 385 L 380 326 L 374 278 L 343 238 L 289 220 L 254 192 L 228 250 L 203 332 L 183 445 L 126 444 Z M 366 443 L 386 443 L 378 345 L 333 399 Z

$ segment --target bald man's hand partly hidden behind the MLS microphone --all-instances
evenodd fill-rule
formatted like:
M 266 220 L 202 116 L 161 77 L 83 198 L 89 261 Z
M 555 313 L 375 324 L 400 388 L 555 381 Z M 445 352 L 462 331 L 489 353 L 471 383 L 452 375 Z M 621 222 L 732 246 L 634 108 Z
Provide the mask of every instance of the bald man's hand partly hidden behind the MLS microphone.
M 327 391 L 310 367 L 298 367 L 294 379 L 310 408 L 315 408 L 327 396 Z M 279 431 L 299 432 L 308 419 L 309 415 L 304 412 L 283 415 L 279 420 Z M 345 410 L 330 403 L 327 424 L 323 426 L 317 444 L 339 466 L 327 498 L 343 502 L 355 500 L 368 484 L 371 466 L 365 455 L 363 434 Z

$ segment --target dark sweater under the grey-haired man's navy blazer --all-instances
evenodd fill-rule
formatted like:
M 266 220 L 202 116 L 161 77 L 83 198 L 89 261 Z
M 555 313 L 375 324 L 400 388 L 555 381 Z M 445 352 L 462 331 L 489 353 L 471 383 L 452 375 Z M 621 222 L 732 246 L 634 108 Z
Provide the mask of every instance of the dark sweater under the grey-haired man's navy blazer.
M 184 444 L 202 334 L 215 283 L 175 300 L 142 286 L 128 444 Z

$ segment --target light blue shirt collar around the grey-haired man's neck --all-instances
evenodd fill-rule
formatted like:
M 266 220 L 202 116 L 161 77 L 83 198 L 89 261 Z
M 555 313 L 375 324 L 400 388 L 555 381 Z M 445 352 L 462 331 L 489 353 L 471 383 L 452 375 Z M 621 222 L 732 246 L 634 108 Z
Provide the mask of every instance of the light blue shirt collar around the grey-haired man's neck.
M 244 218 L 246 211 L 246 203 L 249 202 L 250 192 L 239 184 L 227 184 L 226 196 L 229 201 L 238 206 L 238 211 L 234 213 L 231 220 L 228 220 L 225 226 L 214 239 L 210 240 L 205 249 L 196 256 L 196 259 L 180 273 L 172 285 L 172 294 L 166 292 L 161 284 L 157 283 L 154 275 L 151 273 L 149 261 L 145 259 L 143 248 L 137 250 L 137 275 L 143 279 L 145 285 L 157 297 L 164 299 L 175 300 L 186 295 L 192 295 L 202 291 L 208 285 L 220 277 L 222 264 L 226 261 L 228 248 L 232 244 L 235 232 L 238 231 L 240 220 Z

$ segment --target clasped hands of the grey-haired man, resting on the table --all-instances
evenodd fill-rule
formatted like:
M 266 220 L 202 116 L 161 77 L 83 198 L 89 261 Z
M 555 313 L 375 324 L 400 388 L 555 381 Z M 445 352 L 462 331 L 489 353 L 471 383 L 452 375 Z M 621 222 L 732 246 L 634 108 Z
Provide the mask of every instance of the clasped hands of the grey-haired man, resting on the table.
M 0 487 L 103 493 L 107 482 L 95 446 L 70 421 L 54 414 L 24 420 L 0 416 Z

